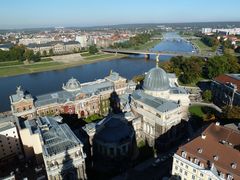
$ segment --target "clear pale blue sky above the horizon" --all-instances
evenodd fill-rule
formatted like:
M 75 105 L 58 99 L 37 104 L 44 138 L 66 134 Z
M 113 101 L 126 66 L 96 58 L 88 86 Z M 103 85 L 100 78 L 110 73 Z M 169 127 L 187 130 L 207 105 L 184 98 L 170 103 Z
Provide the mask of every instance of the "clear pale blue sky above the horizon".
M 0 29 L 240 21 L 240 0 L 1 0 Z

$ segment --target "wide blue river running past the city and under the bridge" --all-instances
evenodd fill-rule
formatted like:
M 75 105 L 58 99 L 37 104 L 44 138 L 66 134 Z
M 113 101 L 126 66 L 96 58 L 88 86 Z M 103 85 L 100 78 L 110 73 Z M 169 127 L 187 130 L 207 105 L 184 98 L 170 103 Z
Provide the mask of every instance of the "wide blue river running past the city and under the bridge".
M 192 52 L 193 47 L 186 41 L 180 41 L 175 32 L 164 34 L 164 39 L 153 50 Z M 166 61 L 169 56 L 161 56 Z M 61 90 L 62 84 L 74 77 L 80 82 L 93 81 L 104 78 L 110 70 L 118 72 L 121 76 L 131 79 L 133 76 L 143 74 L 155 66 L 155 57 L 145 60 L 143 56 L 129 56 L 122 59 L 101 61 L 93 64 L 81 65 L 73 68 L 54 70 L 33 74 L 18 75 L 0 78 L 0 112 L 10 110 L 9 96 L 14 94 L 17 86 L 22 86 L 33 96 Z

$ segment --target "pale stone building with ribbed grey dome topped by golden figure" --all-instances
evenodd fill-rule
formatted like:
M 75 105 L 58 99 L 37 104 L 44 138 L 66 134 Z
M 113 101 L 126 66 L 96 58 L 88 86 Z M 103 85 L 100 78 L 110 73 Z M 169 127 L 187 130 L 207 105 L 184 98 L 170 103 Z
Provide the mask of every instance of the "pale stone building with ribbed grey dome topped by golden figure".
M 157 57 L 156 67 L 146 74 L 143 89 L 130 94 L 131 111 L 140 117 L 133 121 L 136 136 L 147 140 L 151 146 L 161 135 L 179 125 L 182 119 L 187 119 L 190 104 L 187 91 L 178 86 L 174 74 L 167 74 L 158 67 L 158 61 Z M 168 138 L 175 138 L 176 133 L 175 128 Z

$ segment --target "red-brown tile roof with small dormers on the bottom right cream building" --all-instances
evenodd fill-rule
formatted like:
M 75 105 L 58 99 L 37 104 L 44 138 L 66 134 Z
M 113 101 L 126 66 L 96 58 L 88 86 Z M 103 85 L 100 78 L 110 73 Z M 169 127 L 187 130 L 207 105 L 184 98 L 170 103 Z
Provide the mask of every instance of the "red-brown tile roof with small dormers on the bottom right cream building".
M 203 134 L 205 139 L 201 136 L 193 139 L 181 146 L 177 154 L 181 156 L 182 151 L 185 151 L 188 160 L 197 158 L 205 168 L 208 162 L 214 163 L 218 171 L 230 173 L 234 179 L 240 179 L 240 152 L 234 148 L 240 144 L 240 132 L 213 123 Z M 218 160 L 214 160 L 215 156 Z M 236 163 L 236 169 L 232 168 L 233 163 Z

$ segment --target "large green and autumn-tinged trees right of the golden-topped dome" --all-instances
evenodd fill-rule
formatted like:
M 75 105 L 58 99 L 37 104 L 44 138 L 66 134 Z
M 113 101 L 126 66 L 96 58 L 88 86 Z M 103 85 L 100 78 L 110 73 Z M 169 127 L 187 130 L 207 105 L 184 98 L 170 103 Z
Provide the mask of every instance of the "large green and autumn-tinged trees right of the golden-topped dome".
M 220 74 L 240 72 L 237 58 L 229 54 L 215 56 L 207 61 L 200 57 L 173 57 L 161 63 L 161 67 L 175 73 L 184 84 L 194 83 L 200 78 L 212 79 Z

